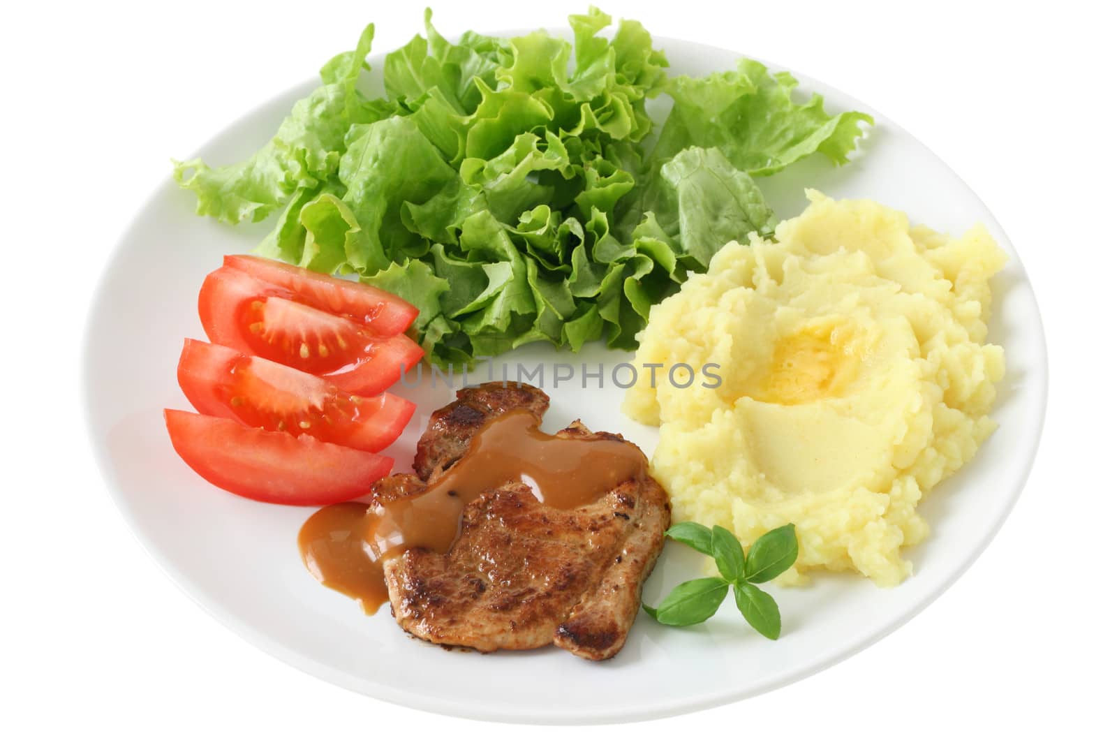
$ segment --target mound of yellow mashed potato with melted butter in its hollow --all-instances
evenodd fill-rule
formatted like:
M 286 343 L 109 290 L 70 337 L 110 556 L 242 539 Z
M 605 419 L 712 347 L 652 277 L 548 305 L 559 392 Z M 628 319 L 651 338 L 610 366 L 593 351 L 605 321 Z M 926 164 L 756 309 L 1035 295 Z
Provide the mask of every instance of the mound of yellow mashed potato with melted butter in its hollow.
M 745 544 L 794 523 L 784 581 L 825 567 L 894 585 L 928 532 L 919 499 L 994 429 L 1004 356 L 985 322 L 1005 257 L 981 227 L 951 239 L 808 197 L 774 240 L 728 243 L 652 308 L 624 411 L 660 426 L 652 469 L 677 520 Z M 645 363 L 665 365 L 655 388 Z M 716 363 L 723 382 L 675 388 L 677 363 Z

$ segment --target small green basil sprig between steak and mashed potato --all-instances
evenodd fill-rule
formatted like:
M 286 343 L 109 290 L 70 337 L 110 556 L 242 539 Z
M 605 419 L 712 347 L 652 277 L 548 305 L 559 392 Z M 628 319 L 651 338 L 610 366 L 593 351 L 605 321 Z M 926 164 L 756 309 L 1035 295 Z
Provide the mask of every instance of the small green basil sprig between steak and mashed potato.
M 667 593 L 659 608 L 643 603 L 648 615 L 666 625 L 701 623 L 717 612 L 733 588 L 737 610 L 748 624 L 768 639 L 780 638 L 780 609 L 772 595 L 756 585 L 774 580 L 795 563 L 799 542 L 794 525 L 768 531 L 753 542 L 747 555 L 737 537 L 720 525 L 708 528 L 698 523 L 679 523 L 667 531 L 667 536 L 713 556 L 722 576 L 684 582 Z

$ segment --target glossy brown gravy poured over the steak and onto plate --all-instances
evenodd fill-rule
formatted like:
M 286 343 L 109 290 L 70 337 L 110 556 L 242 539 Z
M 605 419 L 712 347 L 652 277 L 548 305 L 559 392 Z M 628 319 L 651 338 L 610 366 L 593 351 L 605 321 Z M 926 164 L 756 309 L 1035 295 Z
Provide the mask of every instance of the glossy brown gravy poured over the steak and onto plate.
M 489 420 L 465 455 L 410 497 L 323 507 L 303 524 L 298 548 L 319 582 L 374 613 L 388 600 L 381 562 L 408 548 L 446 553 L 461 532 L 462 508 L 484 491 L 523 481 L 536 499 L 558 509 L 596 500 L 647 460 L 631 442 L 569 439 L 540 431 L 527 411 Z

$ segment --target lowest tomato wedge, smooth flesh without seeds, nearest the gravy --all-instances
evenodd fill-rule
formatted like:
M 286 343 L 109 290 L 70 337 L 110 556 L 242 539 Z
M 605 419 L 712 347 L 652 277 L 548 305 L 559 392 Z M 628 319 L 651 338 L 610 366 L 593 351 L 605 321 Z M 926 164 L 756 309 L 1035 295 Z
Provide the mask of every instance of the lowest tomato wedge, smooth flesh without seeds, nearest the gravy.
M 369 493 L 392 470 L 374 452 L 189 411 L 163 411 L 175 452 L 226 491 L 280 505 L 330 505 Z

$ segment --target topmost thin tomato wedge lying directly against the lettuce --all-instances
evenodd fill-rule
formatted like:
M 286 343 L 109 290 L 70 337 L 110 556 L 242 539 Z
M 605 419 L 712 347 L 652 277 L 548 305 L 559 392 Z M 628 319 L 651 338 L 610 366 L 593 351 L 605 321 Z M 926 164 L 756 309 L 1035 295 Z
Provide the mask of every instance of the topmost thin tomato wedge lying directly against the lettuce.
M 381 336 L 407 331 L 419 315 L 416 306 L 391 293 L 281 261 L 237 254 L 225 257 L 225 266 L 288 289 L 299 303 L 347 316 Z

